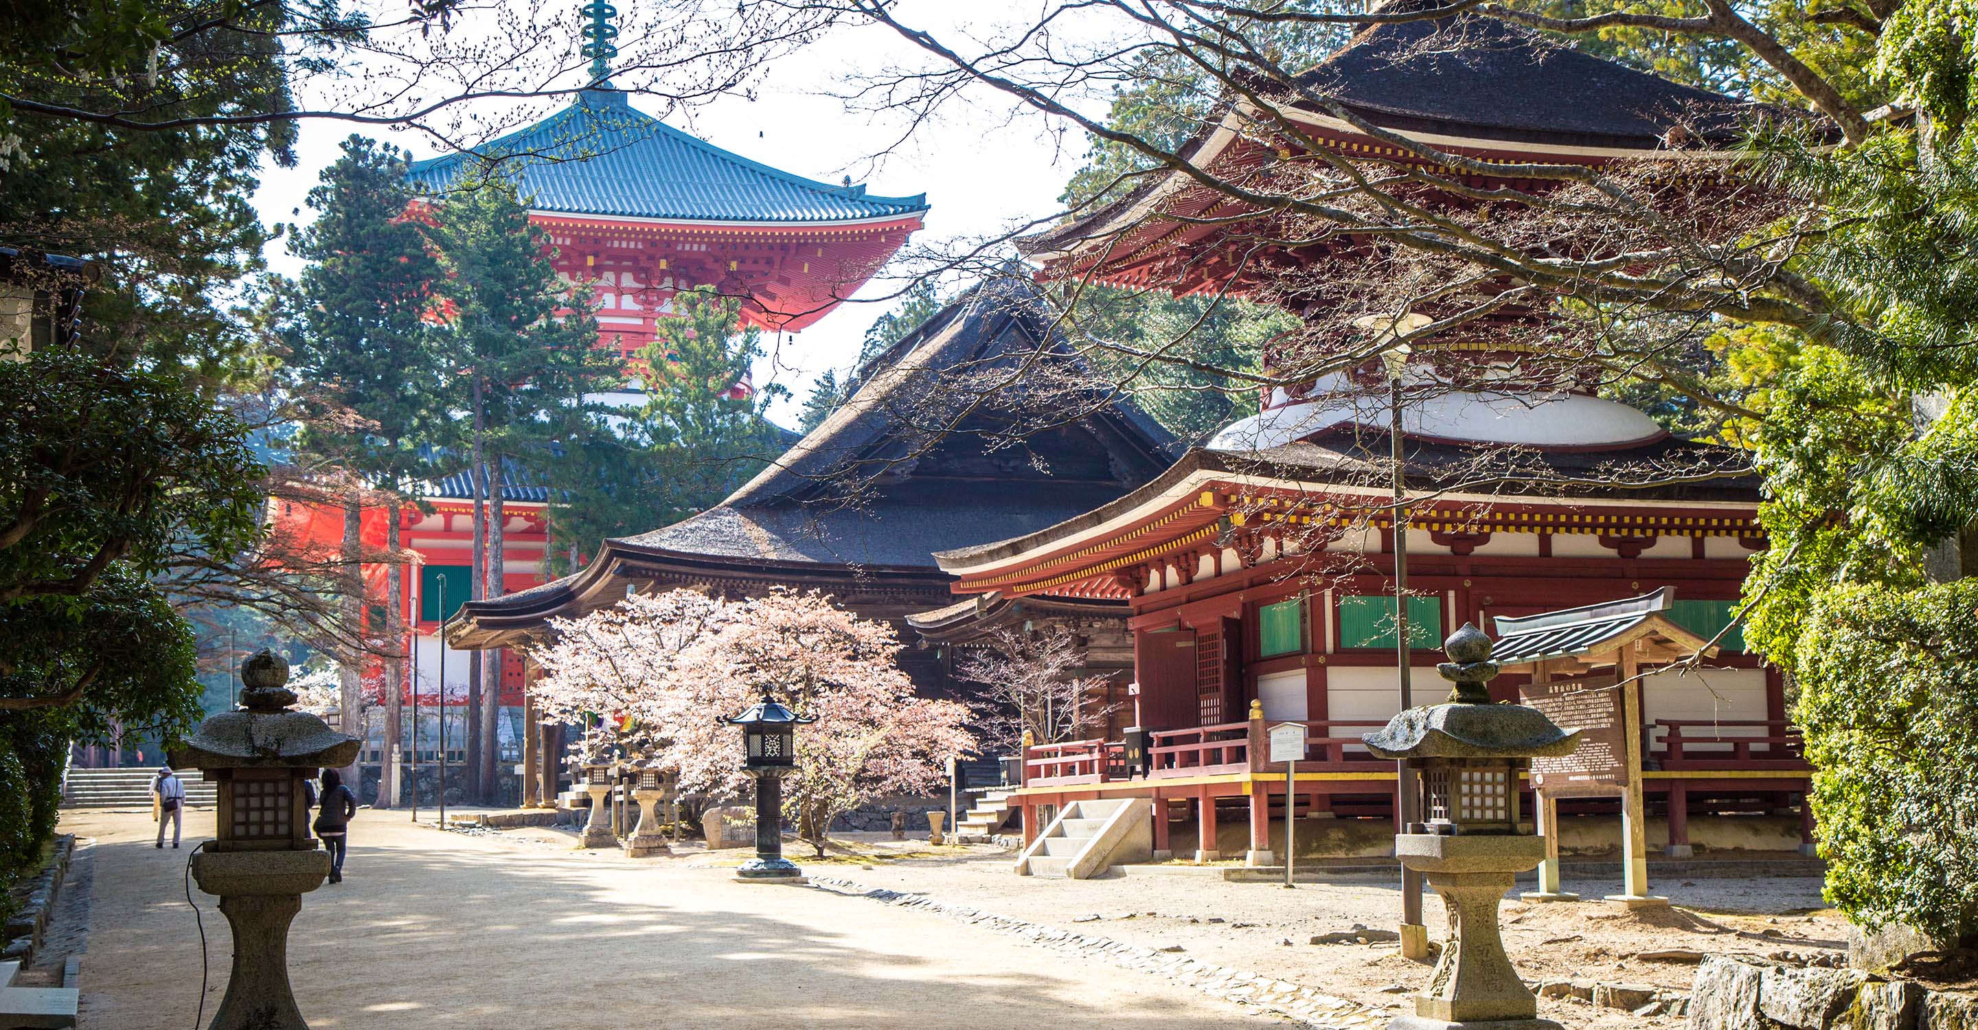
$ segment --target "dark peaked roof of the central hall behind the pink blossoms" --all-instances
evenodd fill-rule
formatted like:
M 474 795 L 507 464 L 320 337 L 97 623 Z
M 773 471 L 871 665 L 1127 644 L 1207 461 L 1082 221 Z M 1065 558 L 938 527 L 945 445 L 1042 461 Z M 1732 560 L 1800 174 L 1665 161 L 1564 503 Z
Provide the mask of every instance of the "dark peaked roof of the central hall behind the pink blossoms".
M 967 384 L 995 384 L 1023 362 L 1023 384 L 969 393 Z M 1036 386 L 1052 380 L 1050 368 L 1080 366 L 1050 334 L 1033 283 L 969 291 L 874 358 L 845 405 L 722 504 L 605 540 L 576 575 L 469 601 L 449 641 L 494 646 L 552 615 L 623 595 L 623 581 L 641 569 L 777 581 L 886 573 L 942 589 L 947 577 L 934 552 L 1064 522 L 1153 478 L 1173 457 L 1173 437 L 1125 397 L 1076 386 L 1027 393 L 1052 389 Z M 955 397 L 983 403 L 947 429 Z M 1058 423 L 1011 435 L 1013 405 L 1025 413 L 1048 405 Z

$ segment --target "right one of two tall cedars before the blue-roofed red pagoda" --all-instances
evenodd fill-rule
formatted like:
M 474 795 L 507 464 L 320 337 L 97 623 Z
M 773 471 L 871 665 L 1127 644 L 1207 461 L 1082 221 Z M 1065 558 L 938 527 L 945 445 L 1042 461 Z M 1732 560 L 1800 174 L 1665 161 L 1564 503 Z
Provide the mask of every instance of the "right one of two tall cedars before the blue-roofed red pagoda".
M 475 484 L 471 597 L 502 595 L 504 488 L 520 467 L 546 467 L 587 417 L 584 397 L 613 386 L 617 356 L 597 346 L 589 291 L 564 283 L 548 237 L 506 180 L 483 178 L 433 208 L 427 239 L 443 269 L 439 334 L 451 370 L 449 453 L 467 459 Z M 479 652 L 475 652 L 479 658 Z M 479 688 L 479 698 L 473 698 Z M 469 785 L 494 801 L 500 720 L 500 652 L 471 672 L 477 700 L 469 731 Z

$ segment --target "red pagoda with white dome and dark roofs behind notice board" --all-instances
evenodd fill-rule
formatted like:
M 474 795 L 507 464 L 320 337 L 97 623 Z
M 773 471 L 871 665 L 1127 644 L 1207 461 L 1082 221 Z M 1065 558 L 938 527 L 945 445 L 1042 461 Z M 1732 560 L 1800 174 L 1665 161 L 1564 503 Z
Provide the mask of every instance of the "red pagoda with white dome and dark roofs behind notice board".
M 1432 40 L 1438 32 L 1448 36 Z M 1729 146 L 1743 107 L 1489 18 L 1369 28 L 1305 81 L 1391 132 L 1511 164 L 1642 160 L 1693 168 Z M 1695 115 L 1699 107 L 1703 117 L 1685 125 L 1691 132 L 1703 127 L 1705 148 L 1669 150 L 1671 111 Z M 1341 154 L 1430 164 L 1331 115 L 1282 111 Z M 1185 152 L 1214 168 L 1254 164 L 1266 154 L 1252 140 L 1238 111 Z M 1507 182 L 1480 176 L 1474 186 Z M 1199 217 L 1205 214 L 1214 217 Z M 1286 239 L 1240 215 L 1224 198 L 1175 176 L 1033 241 L 1033 257 L 1046 279 L 1181 293 L 1242 295 L 1256 285 L 1248 269 L 1258 267 L 1355 273 L 1353 247 L 1335 239 L 1216 261 L 1218 249 L 1254 251 L 1258 239 Z M 1147 761 L 1129 767 L 1120 737 L 1031 747 L 1021 791 L 1029 834 L 1038 832 L 1040 809 L 1147 797 L 1155 801 L 1157 852 L 1270 862 L 1282 840 L 1274 820 L 1296 813 L 1347 816 L 1321 824 L 1323 832 L 1302 830 L 1302 844 L 1387 854 L 1394 765 L 1375 761 L 1359 735 L 1398 710 L 1391 431 L 1402 435 L 1398 465 L 1410 498 L 1406 611 L 1416 704 L 1446 690 L 1434 672 L 1440 641 L 1466 621 L 1489 629 L 1499 617 L 1669 587 L 1675 625 L 1699 639 L 1729 625 L 1749 558 L 1764 546 L 1756 480 L 1729 474 L 1743 465 L 1731 455 L 1673 439 L 1590 386 L 1525 376 L 1525 358 L 1543 348 L 1533 344 L 1543 340 L 1533 332 L 1543 330 L 1543 318 L 1523 312 L 1519 320 L 1507 338 L 1489 336 L 1485 326 L 1416 342 L 1400 370 L 1398 417 L 1379 360 L 1274 389 L 1258 415 L 1106 506 L 1042 532 L 938 556 L 959 577 L 957 593 L 991 603 L 1124 599 L 1133 611 L 1135 718 L 1151 733 Z M 1515 494 L 1464 486 L 1478 463 L 1505 463 L 1527 482 Z M 1669 467 L 1705 474 L 1614 472 Z M 1711 476 L 1711 469 L 1727 474 Z M 1590 478 L 1616 486 L 1569 486 Z M 1648 761 L 1671 759 L 1687 771 L 1679 805 L 1776 815 L 1804 791 L 1780 678 L 1743 652 L 1737 633 L 1721 644 L 1705 676 L 1650 668 L 1636 684 L 1656 728 Z M 1513 698 L 1521 680 L 1505 674 L 1491 688 Z M 1286 767 L 1272 765 L 1258 743 L 1260 728 L 1276 722 L 1309 726 L 1307 761 L 1290 793 Z M 1671 745 L 1671 735 L 1681 743 Z M 1719 743 L 1727 737 L 1768 739 Z M 1681 747 L 1681 757 L 1671 747 Z M 1667 803 L 1669 783 L 1648 781 L 1652 805 Z M 1608 801 L 1578 809 L 1600 805 L 1612 811 Z M 1719 842 L 1711 832 L 1721 826 L 1705 822 L 1687 820 L 1693 838 Z M 1770 826 L 1772 838 L 1753 830 L 1756 822 Z M 1790 815 L 1741 824 L 1739 832 L 1741 846 L 1790 850 L 1800 842 Z

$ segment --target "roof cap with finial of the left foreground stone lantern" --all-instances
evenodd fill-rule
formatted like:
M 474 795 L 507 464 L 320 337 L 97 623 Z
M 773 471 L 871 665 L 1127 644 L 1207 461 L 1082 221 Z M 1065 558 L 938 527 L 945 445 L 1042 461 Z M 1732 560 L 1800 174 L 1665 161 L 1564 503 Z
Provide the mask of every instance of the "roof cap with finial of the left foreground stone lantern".
M 172 765 L 188 769 L 340 767 L 358 757 L 362 741 L 330 730 L 326 722 L 289 710 L 295 692 L 289 662 L 261 650 L 241 664 L 241 708 L 208 716 L 184 745 L 170 751 Z

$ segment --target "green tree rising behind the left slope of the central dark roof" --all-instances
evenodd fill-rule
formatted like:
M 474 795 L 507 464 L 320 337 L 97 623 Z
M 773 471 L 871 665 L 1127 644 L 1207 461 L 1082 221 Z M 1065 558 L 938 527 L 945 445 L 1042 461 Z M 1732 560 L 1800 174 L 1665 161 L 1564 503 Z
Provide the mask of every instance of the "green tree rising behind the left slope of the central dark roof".
M 779 387 L 736 389 L 762 356 L 762 332 L 738 330 L 742 302 L 704 291 L 673 297 L 671 316 L 635 358 L 645 405 L 587 413 L 552 484 L 554 567 L 570 569 L 607 536 L 671 526 L 718 504 L 787 447 L 765 411 Z

